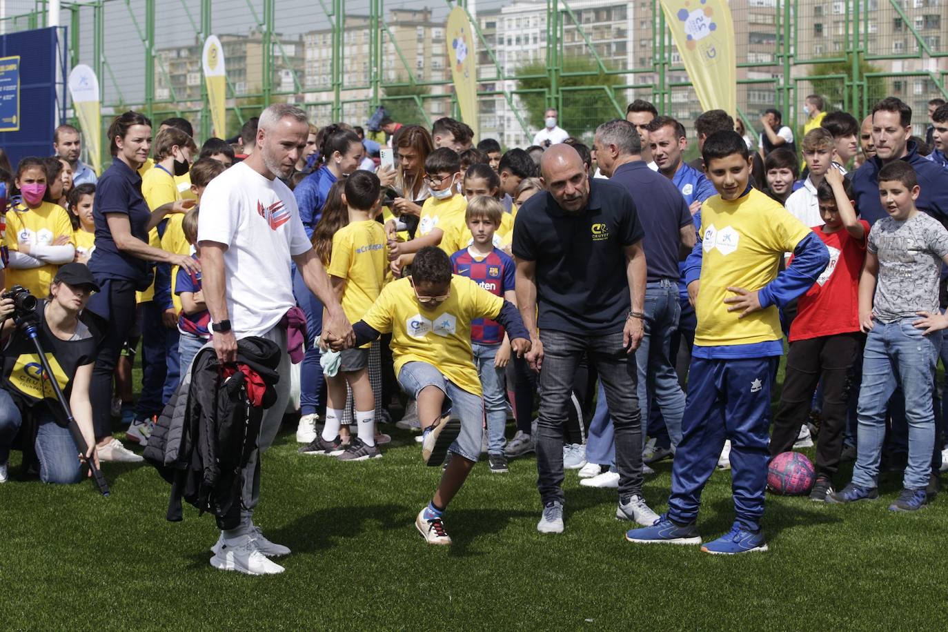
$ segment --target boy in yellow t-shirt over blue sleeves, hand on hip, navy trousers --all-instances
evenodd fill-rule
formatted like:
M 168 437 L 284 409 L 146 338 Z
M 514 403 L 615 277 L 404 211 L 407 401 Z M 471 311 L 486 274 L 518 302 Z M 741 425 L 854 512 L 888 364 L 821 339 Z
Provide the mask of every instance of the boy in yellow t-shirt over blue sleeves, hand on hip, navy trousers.
M 702 205 L 701 236 L 684 266 L 698 329 L 683 437 L 672 463 L 667 514 L 626 537 L 700 544 L 696 520 L 702 489 L 730 440 L 737 520 L 730 533 L 703 544 L 702 551 L 767 551 L 760 519 L 770 460 L 771 388 L 783 354 L 777 308 L 810 289 L 830 253 L 809 227 L 750 187 L 751 159 L 737 132 L 708 136 L 702 157 L 719 194 Z M 793 265 L 777 274 L 784 252 L 793 252 Z

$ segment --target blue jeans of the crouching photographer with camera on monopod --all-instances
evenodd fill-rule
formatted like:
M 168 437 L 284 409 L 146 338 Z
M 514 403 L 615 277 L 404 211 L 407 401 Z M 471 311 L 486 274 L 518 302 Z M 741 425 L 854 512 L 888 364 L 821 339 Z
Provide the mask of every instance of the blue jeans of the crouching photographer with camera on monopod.
M 39 428 L 36 432 L 36 458 L 40 461 L 40 480 L 46 483 L 78 483 L 82 480 L 79 448 L 68 428 L 56 424 L 46 404 L 33 407 Z M 0 463 L 9 459 L 9 446 L 16 437 L 23 416 L 9 393 L 0 388 Z

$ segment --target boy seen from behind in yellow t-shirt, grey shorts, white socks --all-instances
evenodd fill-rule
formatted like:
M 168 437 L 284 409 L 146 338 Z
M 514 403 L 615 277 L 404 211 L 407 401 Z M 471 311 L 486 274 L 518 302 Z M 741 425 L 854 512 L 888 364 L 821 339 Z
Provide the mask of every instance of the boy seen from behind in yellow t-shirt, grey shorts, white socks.
M 326 272 L 342 310 L 356 322 L 382 291 L 388 259 L 385 229 L 375 221 L 381 186 L 373 172 L 357 171 L 346 179 L 342 203 L 349 224 L 333 235 L 333 254 Z M 326 423 L 321 436 L 304 448 L 305 454 L 337 456 L 339 460 L 367 460 L 382 456 L 375 444 L 375 397 L 369 381 L 369 347 L 346 349 L 339 355 L 336 373 L 326 373 Z M 340 451 L 339 428 L 346 405 L 346 385 L 356 405 L 358 437 Z

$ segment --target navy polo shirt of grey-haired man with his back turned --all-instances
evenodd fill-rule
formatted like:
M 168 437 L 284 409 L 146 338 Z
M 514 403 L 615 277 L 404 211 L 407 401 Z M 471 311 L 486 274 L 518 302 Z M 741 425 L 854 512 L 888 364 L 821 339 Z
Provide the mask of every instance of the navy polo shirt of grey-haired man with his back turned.
M 680 231 L 694 222 L 682 193 L 642 160 L 619 165 L 609 181 L 625 187 L 638 209 L 646 233 L 642 248 L 648 263 L 647 280 L 677 281 Z

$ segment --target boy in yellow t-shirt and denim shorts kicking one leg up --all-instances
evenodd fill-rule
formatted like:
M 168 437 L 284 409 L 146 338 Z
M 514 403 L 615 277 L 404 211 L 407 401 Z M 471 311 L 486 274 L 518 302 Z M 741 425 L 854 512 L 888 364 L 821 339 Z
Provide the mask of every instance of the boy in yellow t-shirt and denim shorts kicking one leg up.
M 434 497 L 415 519 L 428 544 L 450 544 L 443 519 L 447 503 L 481 454 L 483 397 L 471 353 L 474 318 L 498 320 L 518 356 L 530 350 L 517 308 L 473 280 L 452 275 L 447 254 L 426 246 L 415 255 L 411 276 L 385 286 L 353 326 L 356 345 L 392 334 L 395 375 L 418 403 L 428 466 L 440 465 L 448 450 L 454 454 Z

